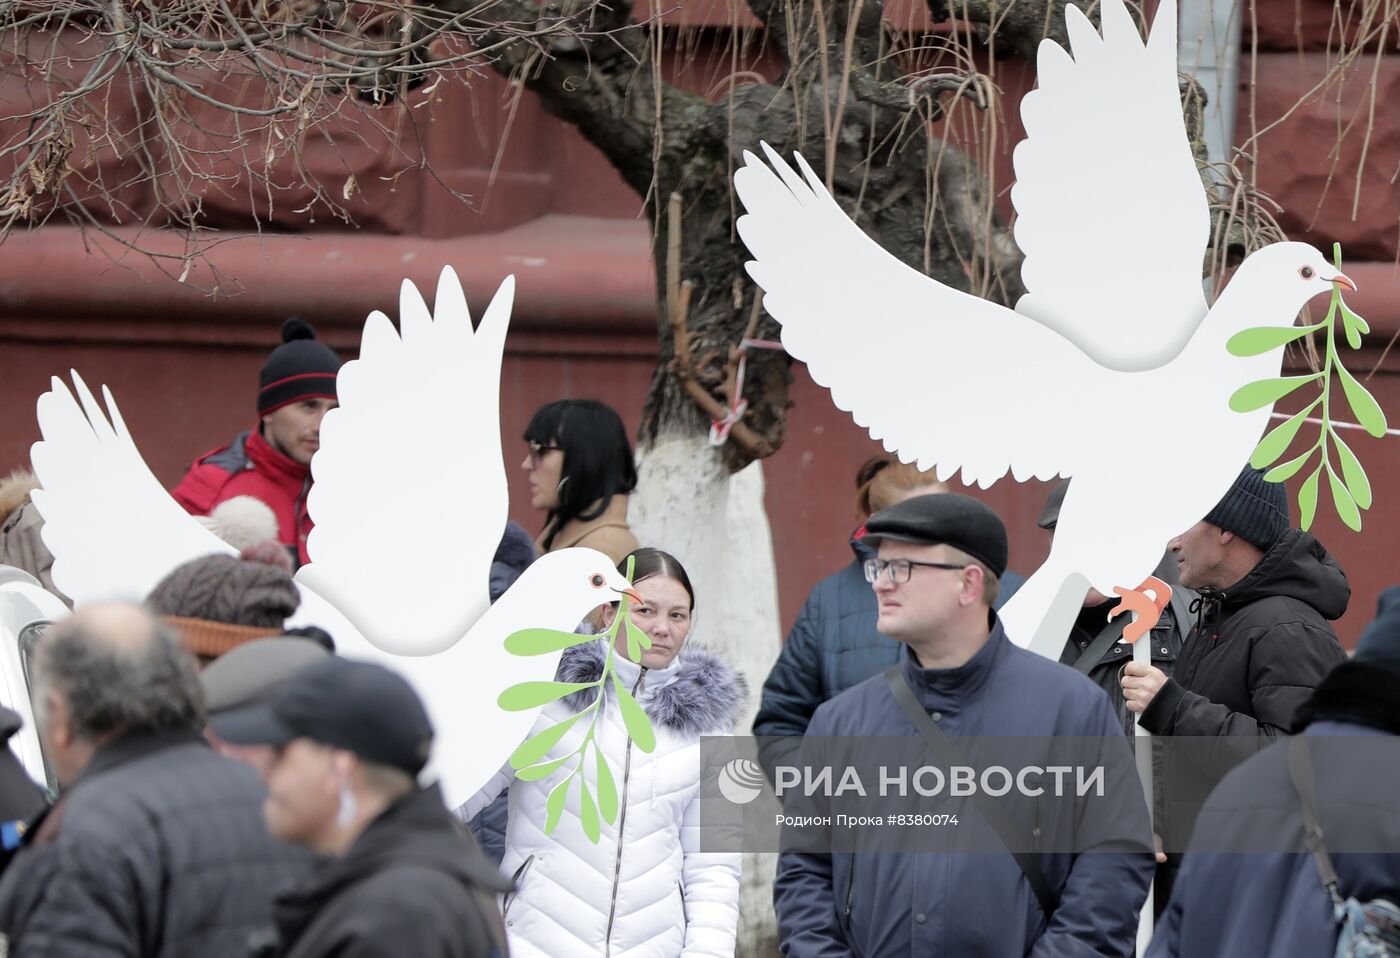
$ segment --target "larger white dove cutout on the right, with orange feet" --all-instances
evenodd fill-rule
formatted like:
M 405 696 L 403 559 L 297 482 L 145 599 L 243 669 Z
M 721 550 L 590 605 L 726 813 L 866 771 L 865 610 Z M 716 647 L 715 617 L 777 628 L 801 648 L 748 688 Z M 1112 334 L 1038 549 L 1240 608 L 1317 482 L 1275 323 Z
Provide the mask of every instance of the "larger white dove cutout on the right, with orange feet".
M 981 487 L 1008 469 L 1074 478 L 1050 556 L 1001 611 L 1012 641 L 1053 658 L 1091 584 L 1127 590 L 1142 630 L 1156 620 L 1138 590 L 1249 459 L 1273 405 L 1236 413 L 1229 396 L 1277 377 L 1282 347 L 1242 359 L 1226 340 L 1291 326 L 1333 283 L 1355 289 L 1312 247 L 1281 242 L 1246 258 L 1207 311 L 1176 6 L 1159 6 L 1147 43 L 1121 0 L 1105 0 L 1102 38 L 1075 7 L 1065 20 L 1072 59 L 1042 42 L 1022 104 L 1011 195 L 1029 293 L 1015 311 L 888 254 L 801 155 L 798 175 L 763 144 L 769 164 L 745 153 L 734 176 L 748 270 L 784 347 L 872 438 Z M 1194 430 L 1187 469 L 1156 465 L 1172 423 Z

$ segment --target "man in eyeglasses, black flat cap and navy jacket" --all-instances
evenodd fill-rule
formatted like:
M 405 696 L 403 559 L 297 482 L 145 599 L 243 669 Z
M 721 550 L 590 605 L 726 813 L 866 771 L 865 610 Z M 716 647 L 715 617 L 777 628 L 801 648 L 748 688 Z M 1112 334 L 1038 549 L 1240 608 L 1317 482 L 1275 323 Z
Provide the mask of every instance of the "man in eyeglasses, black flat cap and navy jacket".
M 1106 797 L 930 800 L 930 811 L 956 805 L 966 835 L 1000 839 L 980 853 L 785 852 L 774 888 L 783 954 L 1131 955 L 1152 875 L 1147 805 L 1103 690 L 1014 646 L 993 612 L 1007 567 L 1001 520 L 967 496 L 923 496 L 871 517 L 867 541 L 878 546 L 865 563 L 878 629 L 906 651 L 822 704 L 808 740 L 868 738 L 874 748 L 876 738 L 923 737 L 923 763 L 951 772 L 987 741 L 1078 737 L 1107 769 Z M 1044 845 L 1064 822 L 1074 852 Z

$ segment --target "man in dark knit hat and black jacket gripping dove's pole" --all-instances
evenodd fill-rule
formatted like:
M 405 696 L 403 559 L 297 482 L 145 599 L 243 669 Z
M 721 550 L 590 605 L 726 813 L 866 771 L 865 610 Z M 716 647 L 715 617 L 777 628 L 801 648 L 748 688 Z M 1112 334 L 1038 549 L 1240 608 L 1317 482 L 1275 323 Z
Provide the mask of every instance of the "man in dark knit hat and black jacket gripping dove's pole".
M 1175 873 L 1210 784 L 1287 735 L 1298 707 L 1347 660 L 1331 620 L 1347 611 L 1351 585 L 1317 539 L 1291 528 L 1282 485 L 1250 466 L 1169 548 L 1182 584 L 1200 592 L 1196 623 L 1173 676 L 1128 662 L 1121 683 L 1154 735 L 1219 740 L 1218 748 L 1176 748 L 1168 765 L 1169 817 L 1159 825 Z M 1170 885 L 1172 874 L 1161 878 Z M 1161 885 L 1158 896 L 1166 901 Z

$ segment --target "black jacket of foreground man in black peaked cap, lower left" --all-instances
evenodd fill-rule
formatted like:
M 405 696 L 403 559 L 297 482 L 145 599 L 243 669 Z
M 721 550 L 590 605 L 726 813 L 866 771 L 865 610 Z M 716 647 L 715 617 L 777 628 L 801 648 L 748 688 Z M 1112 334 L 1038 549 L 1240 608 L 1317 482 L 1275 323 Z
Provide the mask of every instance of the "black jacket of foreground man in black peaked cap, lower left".
M 374 819 L 340 859 L 274 905 L 279 958 L 500 958 L 494 892 L 510 882 L 442 807 L 437 786 Z

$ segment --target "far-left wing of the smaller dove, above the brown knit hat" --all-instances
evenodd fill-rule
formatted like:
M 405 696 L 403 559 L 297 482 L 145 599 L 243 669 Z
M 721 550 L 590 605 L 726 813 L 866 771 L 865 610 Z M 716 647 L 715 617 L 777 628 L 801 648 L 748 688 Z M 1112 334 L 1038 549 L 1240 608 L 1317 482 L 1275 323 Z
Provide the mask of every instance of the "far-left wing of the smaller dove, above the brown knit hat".
M 141 602 L 182 562 L 235 555 L 155 479 L 111 391 L 102 387 L 104 413 L 77 373 L 73 385 L 77 399 L 56 377 L 39 396 L 43 438 L 29 451 L 43 486 L 31 499 L 43 517 L 55 587 L 76 604 Z

